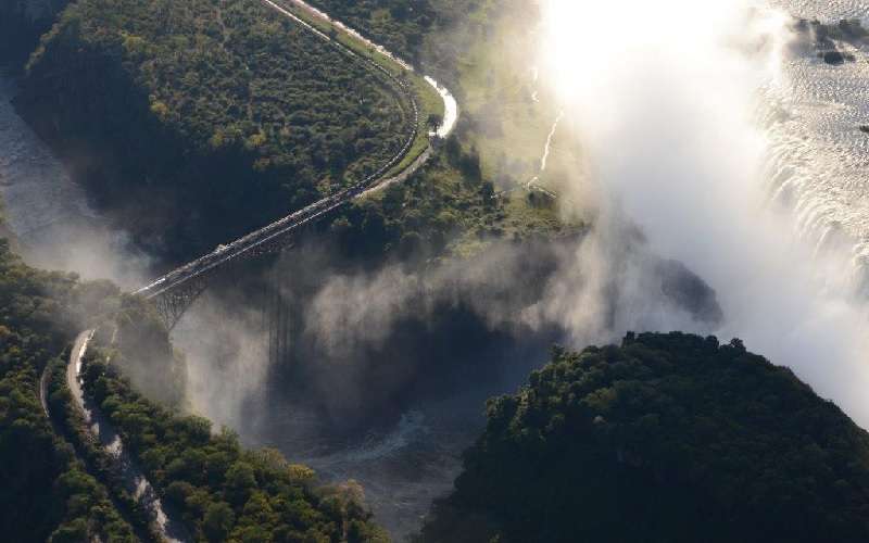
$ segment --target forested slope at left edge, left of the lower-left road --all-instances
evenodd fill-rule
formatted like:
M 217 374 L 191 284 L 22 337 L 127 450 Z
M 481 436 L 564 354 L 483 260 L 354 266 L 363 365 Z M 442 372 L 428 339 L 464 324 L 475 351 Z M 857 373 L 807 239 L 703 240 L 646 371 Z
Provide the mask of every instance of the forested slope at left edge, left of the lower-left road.
M 24 265 L 0 240 L 0 533 L 4 541 L 135 541 L 106 489 L 49 424 L 39 376 L 116 292 Z

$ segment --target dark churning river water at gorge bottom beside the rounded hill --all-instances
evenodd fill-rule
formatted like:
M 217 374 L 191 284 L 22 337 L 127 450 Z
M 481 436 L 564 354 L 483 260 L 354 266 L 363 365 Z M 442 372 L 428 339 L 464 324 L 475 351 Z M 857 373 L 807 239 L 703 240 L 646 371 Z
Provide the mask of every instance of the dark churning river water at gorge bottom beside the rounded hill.
M 483 403 L 482 396 L 424 403 L 394 425 L 347 438 L 324 434 L 322 414 L 270 406 L 263 426 L 243 437 L 311 466 L 323 481 L 358 481 L 378 523 L 401 542 L 419 530 L 431 503 L 452 489 L 462 451 L 484 424 Z

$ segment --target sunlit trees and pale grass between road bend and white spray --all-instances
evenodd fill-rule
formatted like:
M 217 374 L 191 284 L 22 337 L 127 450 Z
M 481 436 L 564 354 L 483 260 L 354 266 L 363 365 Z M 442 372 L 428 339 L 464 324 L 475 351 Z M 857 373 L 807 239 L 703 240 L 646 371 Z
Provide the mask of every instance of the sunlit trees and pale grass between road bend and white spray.
M 456 0 L 316 0 L 336 18 L 423 65 L 448 84 L 461 121 L 424 173 L 350 210 L 335 223 L 366 247 L 403 255 L 466 256 L 492 240 L 577 231 L 556 202 L 526 190 L 491 198 L 537 175 L 557 111 L 532 101 L 528 39 L 536 16 L 524 2 Z M 521 60 L 526 55 L 526 61 Z M 552 110 L 552 111 L 551 111 Z M 542 181 L 558 186 L 578 169 L 576 156 L 554 150 Z M 380 240 L 367 241 L 367 240 Z M 402 241 L 403 240 L 403 241 Z

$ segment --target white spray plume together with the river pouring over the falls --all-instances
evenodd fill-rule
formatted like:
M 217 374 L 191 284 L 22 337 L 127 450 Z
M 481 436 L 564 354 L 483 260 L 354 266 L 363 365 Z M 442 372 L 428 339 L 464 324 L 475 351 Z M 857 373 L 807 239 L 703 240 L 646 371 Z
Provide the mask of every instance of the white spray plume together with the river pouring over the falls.
M 716 327 L 687 324 L 633 300 L 610 333 L 740 337 L 867 424 L 866 304 L 847 263 L 861 264 L 869 233 L 859 130 L 869 71 L 860 51 L 831 66 L 795 50 L 789 16 L 837 21 L 866 8 L 776 2 L 544 0 L 541 79 L 564 102 L 604 194 L 597 247 L 635 225 L 645 250 L 709 282 L 726 316 Z M 609 257 L 585 250 L 575 273 L 605 276 L 618 266 L 590 262 Z M 588 308 L 564 311 L 580 327 L 590 321 L 576 315 Z

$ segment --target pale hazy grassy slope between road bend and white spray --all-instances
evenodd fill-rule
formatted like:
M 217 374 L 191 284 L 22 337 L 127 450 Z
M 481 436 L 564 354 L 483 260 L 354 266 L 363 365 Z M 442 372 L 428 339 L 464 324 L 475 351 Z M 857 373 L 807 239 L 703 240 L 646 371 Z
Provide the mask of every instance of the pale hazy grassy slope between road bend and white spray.
M 469 43 L 458 62 L 459 86 L 464 109 L 478 134 L 474 142 L 483 175 L 503 189 L 539 177 L 538 185 L 557 191 L 576 180 L 582 165 L 570 126 L 563 121 L 553 138 L 546 171 L 540 172 L 559 110 L 547 83 L 534 81 L 538 36 L 533 17 L 528 5 L 483 2 L 469 17 L 471 23 L 458 30 L 458 39 Z M 534 92 L 538 101 L 532 98 Z

